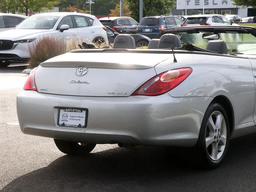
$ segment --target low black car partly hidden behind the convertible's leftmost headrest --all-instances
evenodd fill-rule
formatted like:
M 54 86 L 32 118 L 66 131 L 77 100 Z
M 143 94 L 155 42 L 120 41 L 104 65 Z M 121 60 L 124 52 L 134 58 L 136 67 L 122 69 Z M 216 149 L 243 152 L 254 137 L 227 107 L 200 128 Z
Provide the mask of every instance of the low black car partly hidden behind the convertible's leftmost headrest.
M 105 26 L 107 28 L 107 36 L 108 36 L 108 41 L 109 43 L 114 43 L 115 37 L 118 36 L 120 33 L 116 32 L 112 28 Z M 139 34 L 130 34 L 134 41 L 136 47 L 143 47 L 143 46 L 148 46 L 148 43 L 150 41 L 150 38 L 144 36 L 144 35 L 139 35 Z

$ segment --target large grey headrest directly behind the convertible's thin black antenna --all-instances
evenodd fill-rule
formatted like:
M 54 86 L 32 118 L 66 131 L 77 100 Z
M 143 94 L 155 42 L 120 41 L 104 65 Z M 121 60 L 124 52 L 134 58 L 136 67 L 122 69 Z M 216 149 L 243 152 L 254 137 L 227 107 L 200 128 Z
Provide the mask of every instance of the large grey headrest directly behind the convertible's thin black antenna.
M 174 34 L 164 34 L 161 36 L 158 49 L 167 49 L 167 48 L 179 48 L 181 47 L 180 39 L 177 35 Z

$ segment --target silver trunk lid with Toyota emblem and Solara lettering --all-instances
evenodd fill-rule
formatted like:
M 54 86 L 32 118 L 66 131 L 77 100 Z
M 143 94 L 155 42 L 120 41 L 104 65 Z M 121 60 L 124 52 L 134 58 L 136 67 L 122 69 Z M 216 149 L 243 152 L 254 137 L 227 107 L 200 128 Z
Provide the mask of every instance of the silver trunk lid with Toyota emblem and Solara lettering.
M 129 96 L 156 75 L 155 65 L 170 57 L 149 53 L 66 53 L 41 63 L 35 82 L 41 93 Z M 85 75 L 79 76 L 79 66 L 87 68 Z

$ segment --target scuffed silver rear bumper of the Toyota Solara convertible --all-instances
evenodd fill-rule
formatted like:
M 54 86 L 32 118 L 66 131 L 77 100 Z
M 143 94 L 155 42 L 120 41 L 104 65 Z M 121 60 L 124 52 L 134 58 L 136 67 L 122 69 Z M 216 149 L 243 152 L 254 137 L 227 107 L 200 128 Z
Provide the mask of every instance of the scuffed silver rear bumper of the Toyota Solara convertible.
M 211 97 L 80 97 L 22 91 L 17 96 L 25 134 L 77 142 L 194 146 Z M 57 125 L 58 108 L 87 108 L 87 128 Z

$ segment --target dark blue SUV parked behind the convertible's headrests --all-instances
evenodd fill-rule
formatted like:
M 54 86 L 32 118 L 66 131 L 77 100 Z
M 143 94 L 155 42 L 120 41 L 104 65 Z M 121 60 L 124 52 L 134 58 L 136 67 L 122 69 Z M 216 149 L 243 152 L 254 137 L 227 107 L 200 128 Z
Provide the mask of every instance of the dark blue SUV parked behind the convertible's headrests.
M 160 38 L 159 31 L 164 28 L 180 27 L 183 21 L 174 15 L 147 15 L 143 17 L 137 26 L 138 34 L 145 35 L 150 39 Z

